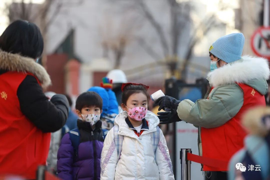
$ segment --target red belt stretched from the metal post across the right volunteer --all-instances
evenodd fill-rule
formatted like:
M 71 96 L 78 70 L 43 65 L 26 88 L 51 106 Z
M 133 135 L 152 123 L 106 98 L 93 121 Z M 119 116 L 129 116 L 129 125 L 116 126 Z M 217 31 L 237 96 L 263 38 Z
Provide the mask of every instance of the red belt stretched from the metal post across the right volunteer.
M 187 153 L 187 159 L 193 162 L 197 162 L 203 165 L 215 167 L 215 168 L 222 168 L 228 170 L 228 163 L 227 161 L 222 161 L 218 159 L 211 159 L 211 158 L 205 158 L 202 156 L 198 156 L 195 154 Z

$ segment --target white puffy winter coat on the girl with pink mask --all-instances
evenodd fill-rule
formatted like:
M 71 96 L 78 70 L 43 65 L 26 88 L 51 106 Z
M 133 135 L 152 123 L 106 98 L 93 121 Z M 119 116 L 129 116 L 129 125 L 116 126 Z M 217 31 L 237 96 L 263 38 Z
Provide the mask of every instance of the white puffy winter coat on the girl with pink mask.
M 144 130 L 140 137 L 129 128 L 125 121 L 126 118 L 127 112 L 123 111 L 116 116 L 114 121 L 119 126 L 118 134 L 124 136 L 122 153 L 118 162 L 117 149 L 114 143 L 114 128 L 108 132 L 105 138 L 101 157 L 100 179 L 174 179 L 168 147 L 161 130 L 156 150 L 156 161 L 154 159 L 151 134 L 157 130 L 158 117 L 147 111 L 145 119 L 148 122 L 149 130 Z

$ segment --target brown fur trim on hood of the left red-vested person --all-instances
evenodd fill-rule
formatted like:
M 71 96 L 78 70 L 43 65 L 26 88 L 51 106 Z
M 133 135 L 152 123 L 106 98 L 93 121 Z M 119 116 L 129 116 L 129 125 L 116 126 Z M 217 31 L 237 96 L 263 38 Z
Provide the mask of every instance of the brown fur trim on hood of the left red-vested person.
M 36 63 L 34 59 L 12 54 L 0 49 L 0 69 L 34 74 L 40 81 L 42 88 L 46 89 L 52 84 L 45 68 Z

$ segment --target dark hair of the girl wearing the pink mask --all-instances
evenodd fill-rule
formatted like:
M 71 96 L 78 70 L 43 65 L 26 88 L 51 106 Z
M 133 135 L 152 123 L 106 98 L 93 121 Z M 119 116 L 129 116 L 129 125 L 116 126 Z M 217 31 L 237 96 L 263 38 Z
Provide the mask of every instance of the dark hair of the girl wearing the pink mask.
M 124 89 L 123 89 L 122 103 L 126 105 L 127 104 L 127 100 L 129 99 L 129 97 L 132 94 L 136 94 L 136 93 L 143 93 L 143 94 L 145 94 L 146 97 L 147 97 L 147 102 L 149 102 L 150 95 L 147 92 L 147 90 L 145 89 L 145 87 L 143 87 L 141 85 L 130 84 L 128 86 L 125 86 Z

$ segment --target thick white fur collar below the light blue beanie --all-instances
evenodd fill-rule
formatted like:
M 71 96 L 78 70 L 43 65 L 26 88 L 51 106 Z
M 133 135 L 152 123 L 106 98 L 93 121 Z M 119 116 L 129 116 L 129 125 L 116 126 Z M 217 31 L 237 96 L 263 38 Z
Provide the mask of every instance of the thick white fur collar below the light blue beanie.
M 243 56 L 242 59 L 229 63 L 212 72 L 207 79 L 213 87 L 220 85 L 246 83 L 252 79 L 268 79 L 270 75 L 268 60 L 261 57 Z

